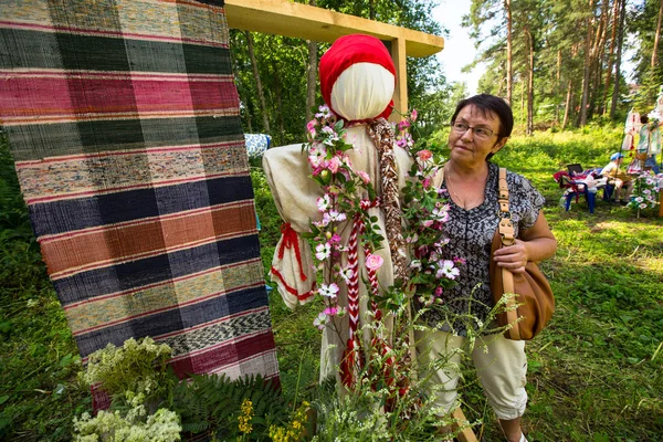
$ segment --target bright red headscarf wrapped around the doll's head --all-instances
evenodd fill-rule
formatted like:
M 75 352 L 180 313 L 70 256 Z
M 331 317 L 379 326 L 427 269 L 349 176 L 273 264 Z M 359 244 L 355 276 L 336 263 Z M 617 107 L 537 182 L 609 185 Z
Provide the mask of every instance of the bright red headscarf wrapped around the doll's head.
M 332 108 L 332 90 L 343 72 L 355 63 L 375 63 L 393 74 L 396 85 L 396 67 L 385 44 L 375 36 L 364 34 L 344 35 L 337 39 L 320 59 L 320 92 L 327 106 Z M 393 109 L 393 101 L 375 117 L 388 118 Z M 335 114 L 338 115 L 336 110 Z

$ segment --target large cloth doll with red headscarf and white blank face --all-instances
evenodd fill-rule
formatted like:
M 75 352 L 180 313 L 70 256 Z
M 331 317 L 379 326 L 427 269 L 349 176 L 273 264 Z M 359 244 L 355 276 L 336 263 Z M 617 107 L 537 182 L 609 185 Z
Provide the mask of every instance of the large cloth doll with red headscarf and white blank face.
M 377 282 L 379 291 L 383 291 L 394 278 L 404 276 L 407 259 L 399 190 L 406 183 L 412 162 L 409 154 L 396 145 L 393 128 L 386 119 L 392 112 L 396 70 L 382 42 L 360 34 L 339 38 L 320 59 L 319 75 L 326 105 L 345 120 L 348 128 L 346 140 L 354 149 L 347 154 L 354 169 L 365 172 L 376 188 L 378 199 L 371 201 L 367 194 L 360 197 L 366 201 L 366 204 L 362 202 L 365 210 L 377 218 L 380 234 L 385 238 L 381 248 L 373 253 L 383 260 L 383 264 L 371 275 L 366 266 L 366 250 L 357 241 L 356 218 L 348 217 L 338 224 L 340 244 L 343 250 L 348 250 L 339 257 L 341 267 L 355 269 L 355 272 L 347 284 L 339 284 L 337 293 L 338 305 L 347 307 L 348 314 L 332 317 L 323 330 L 322 380 L 339 375 L 348 347 L 360 345 L 366 348 L 370 343 L 370 332 L 362 329 L 362 325 L 368 324 L 370 316 L 371 287 L 364 282 L 375 276 L 373 286 Z M 317 293 L 311 246 L 299 235 L 309 231 L 311 221 L 320 220 L 318 199 L 325 193 L 311 178 L 309 154 L 297 144 L 271 149 L 263 159 L 274 201 L 285 221 L 274 254 L 272 280 L 291 308 L 312 301 Z M 340 373 L 346 385 L 348 375 Z

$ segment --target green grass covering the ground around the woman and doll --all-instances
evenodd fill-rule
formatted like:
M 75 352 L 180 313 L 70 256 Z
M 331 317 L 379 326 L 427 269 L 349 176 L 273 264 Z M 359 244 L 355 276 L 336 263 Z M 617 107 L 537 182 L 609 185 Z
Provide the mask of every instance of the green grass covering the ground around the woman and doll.
M 653 441 L 663 434 L 663 219 L 583 200 L 559 208 L 552 173 L 566 164 L 600 167 L 621 144 L 620 128 L 516 137 L 495 160 L 544 193 L 559 242 L 543 264 L 557 311 L 527 345 L 530 441 Z M 256 166 L 256 165 L 255 165 Z M 264 177 L 252 168 L 265 275 L 281 220 Z M 0 440 L 69 440 L 71 419 L 90 408 L 64 313 L 48 281 L 7 147 L 0 148 Z M 290 311 L 270 295 L 284 391 L 317 382 L 319 304 Z M 482 419 L 485 441 L 502 440 L 481 388 L 467 373 L 464 411 Z

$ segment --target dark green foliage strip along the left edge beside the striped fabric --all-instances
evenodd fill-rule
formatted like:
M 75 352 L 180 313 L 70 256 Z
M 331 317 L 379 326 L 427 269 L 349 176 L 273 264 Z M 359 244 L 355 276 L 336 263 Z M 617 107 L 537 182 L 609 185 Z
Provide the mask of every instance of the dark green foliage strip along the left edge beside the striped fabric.
M 77 355 L 0 135 L 0 440 L 70 440 L 91 408 Z

